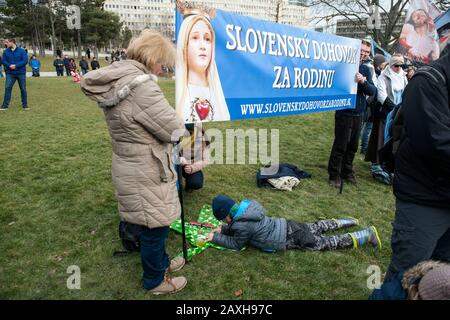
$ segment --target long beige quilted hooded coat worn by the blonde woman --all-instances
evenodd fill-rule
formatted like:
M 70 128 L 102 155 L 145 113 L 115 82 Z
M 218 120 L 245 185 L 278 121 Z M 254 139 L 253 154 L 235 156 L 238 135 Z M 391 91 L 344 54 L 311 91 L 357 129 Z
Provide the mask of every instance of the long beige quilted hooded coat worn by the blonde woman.
M 122 220 L 169 226 L 180 214 L 172 134 L 184 130 L 143 64 L 123 60 L 91 71 L 81 89 L 102 107 L 112 142 L 112 179 Z

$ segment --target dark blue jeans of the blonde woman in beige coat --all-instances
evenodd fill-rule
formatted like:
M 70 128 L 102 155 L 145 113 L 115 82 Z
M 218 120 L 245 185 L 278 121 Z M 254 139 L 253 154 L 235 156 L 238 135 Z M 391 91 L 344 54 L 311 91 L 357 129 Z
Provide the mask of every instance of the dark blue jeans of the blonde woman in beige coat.
M 166 269 L 170 265 L 166 253 L 166 239 L 169 227 L 146 228 L 141 233 L 141 261 L 144 269 L 144 289 L 151 290 L 163 282 Z

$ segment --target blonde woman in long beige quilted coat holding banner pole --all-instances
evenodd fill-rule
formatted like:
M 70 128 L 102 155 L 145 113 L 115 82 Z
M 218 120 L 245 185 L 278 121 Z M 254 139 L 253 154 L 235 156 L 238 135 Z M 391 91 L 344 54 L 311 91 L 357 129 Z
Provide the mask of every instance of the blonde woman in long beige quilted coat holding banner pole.
M 82 91 L 103 109 L 112 142 L 112 180 L 122 221 L 142 226 L 143 287 L 174 293 L 187 283 L 170 277 L 183 258 L 172 261 L 165 246 L 169 226 L 180 216 L 172 143 L 184 124 L 157 83 L 163 65 L 175 64 L 175 48 L 160 33 L 144 30 L 127 50 L 128 59 L 87 73 Z

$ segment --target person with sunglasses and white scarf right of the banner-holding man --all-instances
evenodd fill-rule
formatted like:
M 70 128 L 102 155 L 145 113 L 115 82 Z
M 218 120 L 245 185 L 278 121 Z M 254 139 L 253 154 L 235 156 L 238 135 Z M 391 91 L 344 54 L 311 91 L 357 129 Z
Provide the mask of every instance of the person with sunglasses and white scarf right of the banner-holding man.
M 387 172 L 380 163 L 378 151 L 383 147 L 384 129 L 386 117 L 396 106 L 402 103 L 402 94 L 408 84 L 408 79 L 403 71 L 405 60 L 401 55 L 393 55 L 378 78 L 377 104 L 374 110 L 374 124 L 369 138 L 369 145 L 365 161 L 372 163 L 372 176 L 385 184 L 392 184 L 391 174 Z

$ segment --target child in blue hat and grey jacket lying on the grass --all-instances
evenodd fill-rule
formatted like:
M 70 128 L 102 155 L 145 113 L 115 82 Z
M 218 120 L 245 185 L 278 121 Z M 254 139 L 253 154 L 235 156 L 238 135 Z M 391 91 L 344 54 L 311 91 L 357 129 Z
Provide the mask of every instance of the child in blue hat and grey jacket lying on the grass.
M 357 248 L 365 243 L 381 249 L 381 241 L 374 226 L 341 235 L 323 235 L 327 231 L 358 225 L 358 220 L 351 217 L 314 223 L 271 218 L 257 201 L 242 200 L 236 203 L 225 195 L 216 196 L 212 207 L 215 218 L 226 224 L 209 233 L 206 241 L 233 250 L 251 245 L 265 252 L 288 249 L 322 251 Z

